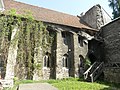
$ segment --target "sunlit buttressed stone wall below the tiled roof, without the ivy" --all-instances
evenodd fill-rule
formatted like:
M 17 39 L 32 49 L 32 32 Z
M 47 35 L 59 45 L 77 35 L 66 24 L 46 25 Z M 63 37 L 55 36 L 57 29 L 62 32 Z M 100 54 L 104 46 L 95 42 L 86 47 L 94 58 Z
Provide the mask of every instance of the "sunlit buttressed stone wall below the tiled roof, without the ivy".
M 12 45 L 12 43 L 10 44 L 5 79 L 13 79 L 14 77 L 18 77 L 19 79 L 28 79 L 28 74 L 30 75 L 29 79 L 33 80 L 50 78 L 62 79 L 80 76 L 80 56 L 85 58 L 88 53 L 87 36 L 89 36 L 89 34 L 87 34 L 85 30 L 83 31 L 83 29 L 81 31 L 81 29 L 77 28 L 54 24 L 52 25 L 54 26 L 53 31 L 48 31 L 49 34 L 51 32 L 55 32 L 55 41 L 53 44 L 47 47 L 45 51 L 43 50 L 42 46 L 37 43 L 34 44 L 33 48 L 30 47 L 34 52 L 32 53 L 34 57 L 29 63 L 31 64 L 31 68 L 28 68 L 28 61 L 25 61 L 29 57 L 27 54 L 22 53 L 22 55 L 25 57 L 22 59 L 20 58 L 20 61 L 16 60 L 17 55 L 19 56 L 18 52 L 20 51 L 21 47 L 18 44 L 19 41 L 17 40 L 15 45 Z M 16 34 L 19 34 L 17 31 L 19 31 L 19 28 L 15 28 L 13 30 L 11 41 L 12 39 L 16 38 Z M 82 33 L 81 35 L 79 35 L 80 31 Z M 79 36 L 81 37 L 82 42 L 79 41 Z M 82 38 L 84 38 L 85 41 Z M 25 39 L 23 38 L 22 40 Z M 82 43 L 82 46 L 80 43 Z M 49 52 L 51 56 L 49 67 L 44 67 L 43 57 L 45 56 L 46 52 Z M 68 58 L 67 66 L 63 66 L 64 56 L 67 56 Z

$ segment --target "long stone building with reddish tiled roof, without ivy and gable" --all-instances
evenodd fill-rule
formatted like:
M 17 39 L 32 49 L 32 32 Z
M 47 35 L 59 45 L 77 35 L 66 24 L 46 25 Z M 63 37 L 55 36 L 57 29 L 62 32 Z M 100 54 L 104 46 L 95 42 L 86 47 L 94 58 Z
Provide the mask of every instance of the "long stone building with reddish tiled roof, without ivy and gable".
M 42 76 L 38 75 L 38 70 L 34 70 L 33 79 L 62 79 L 68 77 L 79 77 L 80 66 L 88 54 L 88 42 L 94 38 L 97 29 L 93 29 L 81 22 L 77 16 L 68 15 L 65 13 L 49 10 L 42 7 L 32 6 L 13 0 L 3 0 L 4 12 L 15 9 L 17 14 L 25 14 L 29 10 L 34 19 L 44 22 L 49 33 L 55 33 L 55 42 L 50 50 L 44 55 L 36 57 L 36 60 L 42 62 Z M 3 7 L 2 7 L 3 8 Z M 15 29 L 16 30 L 16 29 Z M 13 36 L 14 38 L 14 36 Z M 23 72 L 16 74 L 17 47 L 9 49 L 5 79 L 11 79 L 14 76 L 21 79 L 26 79 Z M 11 52 L 14 52 L 11 55 Z M 14 60 L 13 60 L 14 59 Z M 11 64 L 12 62 L 12 64 Z M 37 61 L 34 61 L 37 62 Z M 21 67 L 22 69 L 23 67 Z M 22 76 L 22 77 L 21 77 Z

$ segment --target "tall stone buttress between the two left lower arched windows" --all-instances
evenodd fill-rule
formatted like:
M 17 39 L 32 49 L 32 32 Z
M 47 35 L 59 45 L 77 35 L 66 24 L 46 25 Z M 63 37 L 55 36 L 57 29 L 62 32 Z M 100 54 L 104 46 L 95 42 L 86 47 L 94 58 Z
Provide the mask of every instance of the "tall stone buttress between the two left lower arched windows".
M 62 36 L 61 32 L 57 32 L 57 48 L 56 48 L 56 79 L 62 79 L 63 73 L 62 73 Z

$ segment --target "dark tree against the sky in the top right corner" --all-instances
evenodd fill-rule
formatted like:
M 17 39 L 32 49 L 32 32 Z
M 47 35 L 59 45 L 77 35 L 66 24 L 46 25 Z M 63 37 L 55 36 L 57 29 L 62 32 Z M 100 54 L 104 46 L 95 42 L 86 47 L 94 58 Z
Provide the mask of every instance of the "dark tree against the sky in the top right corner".
M 109 6 L 113 9 L 113 18 L 120 16 L 120 0 L 109 0 Z

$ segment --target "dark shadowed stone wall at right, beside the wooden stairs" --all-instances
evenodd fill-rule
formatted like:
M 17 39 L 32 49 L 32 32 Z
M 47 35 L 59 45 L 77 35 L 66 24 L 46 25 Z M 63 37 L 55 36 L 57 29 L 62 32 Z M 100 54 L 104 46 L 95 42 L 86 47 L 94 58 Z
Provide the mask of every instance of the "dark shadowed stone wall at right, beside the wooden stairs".
M 120 19 L 117 19 L 102 28 L 105 56 L 105 80 L 120 82 Z

